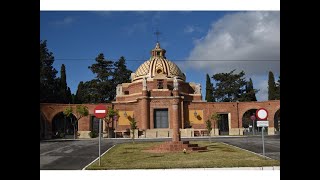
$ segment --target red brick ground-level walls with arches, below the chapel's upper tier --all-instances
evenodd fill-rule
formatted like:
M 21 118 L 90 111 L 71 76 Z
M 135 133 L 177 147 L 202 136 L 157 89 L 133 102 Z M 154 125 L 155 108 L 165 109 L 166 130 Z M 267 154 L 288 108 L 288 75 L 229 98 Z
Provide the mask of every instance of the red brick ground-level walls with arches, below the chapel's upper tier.
M 258 109 L 265 108 L 269 112 L 268 120 L 269 127 L 272 129 L 274 127 L 274 116 L 275 113 L 280 109 L 280 101 L 264 101 L 264 102 L 190 102 L 185 98 L 181 105 L 179 105 L 179 126 L 182 128 L 182 124 L 187 125 L 187 121 L 189 119 L 189 110 L 202 110 L 203 111 L 203 119 L 204 122 L 208 118 L 210 118 L 213 113 L 223 113 L 230 114 L 230 122 L 229 131 L 238 131 L 239 128 L 242 128 L 242 116 L 243 114 L 250 109 Z M 149 117 L 147 120 L 149 121 L 150 129 L 154 128 L 154 109 L 167 108 L 169 119 L 173 116 L 172 114 L 172 103 L 170 98 L 148 98 L 149 105 L 147 106 L 149 111 Z M 114 109 L 118 109 L 121 111 L 133 111 L 133 115 L 137 120 L 137 125 L 139 128 L 142 127 L 142 101 L 141 99 L 137 99 L 136 102 L 130 103 L 115 103 Z M 92 116 L 94 113 L 94 108 L 97 106 L 96 104 L 84 104 L 89 109 L 89 114 Z M 112 107 L 112 104 L 104 104 L 106 108 Z M 52 120 L 55 115 L 60 112 L 63 112 L 66 107 L 73 107 L 75 111 L 76 104 L 50 104 L 50 103 L 41 103 L 40 111 L 42 124 L 46 124 L 45 126 L 45 134 L 47 136 L 51 136 L 52 131 Z M 183 107 L 182 107 L 183 106 Z M 181 112 L 183 109 L 183 112 Z M 76 114 L 74 114 L 77 116 Z M 182 117 L 183 115 L 183 117 Z M 90 131 L 90 116 L 83 117 L 78 122 L 79 131 Z M 183 120 L 183 122 L 182 122 Z M 172 127 L 172 122 L 169 123 L 169 128 Z M 185 126 L 186 127 L 186 126 Z M 216 126 L 217 127 L 217 126 Z M 129 126 L 118 126 L 118 130 L 125 130 L 129 128 Z M 194 124 L 192 128 L 204 129 L 205 123 L 203 124 Z M 234 129 L 234 130 L 232 130 Z

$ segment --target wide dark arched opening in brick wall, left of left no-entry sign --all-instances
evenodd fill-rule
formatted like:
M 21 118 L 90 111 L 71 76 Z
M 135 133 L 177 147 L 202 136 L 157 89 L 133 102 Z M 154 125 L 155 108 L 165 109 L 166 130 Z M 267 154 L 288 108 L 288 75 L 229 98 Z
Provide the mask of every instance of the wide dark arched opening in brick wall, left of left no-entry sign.
M 75 123 L 76 117 L 72 114 L 66 117 L 63 112 L 60 112 L 52 119 L 52 138 L 74 138 L 74 126 L 78 131 L 78 123 Z

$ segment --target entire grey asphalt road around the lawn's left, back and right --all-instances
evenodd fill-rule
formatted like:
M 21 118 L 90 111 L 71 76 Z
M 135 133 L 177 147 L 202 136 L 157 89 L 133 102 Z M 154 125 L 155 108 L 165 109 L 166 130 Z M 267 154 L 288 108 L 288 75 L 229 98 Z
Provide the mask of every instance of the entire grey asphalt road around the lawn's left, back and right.
M 208 140 L 207 137 L 182 138 L 182 140 Z M 212 137 L 212 141 L 224 142 L 258 154 L 262 154 L 261 136 Z M 136 141 L 171 141 L 171 138 L 136 139 Z M 102 139 L 101 154 L 117 143 L 131 139 Z M 265 136 L 265 155 L 280 161 L 280 136 Z M 99 156 L 98 139 L 40 141 L 40 170 L 81 170 Z

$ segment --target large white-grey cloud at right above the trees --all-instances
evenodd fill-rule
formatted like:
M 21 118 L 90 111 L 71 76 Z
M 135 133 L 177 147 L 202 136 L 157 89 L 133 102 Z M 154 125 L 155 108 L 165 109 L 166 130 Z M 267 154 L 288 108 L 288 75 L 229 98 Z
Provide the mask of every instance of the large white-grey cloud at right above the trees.
M 187 29 L 189 32 L 192 28 Z M 279 11 L 241 12 L 213 23 L 205 37 L 195 40 L 188 67 L 210 73 L 244 70 L 246 75 L 280 72 Z M 198 61 L 196 60 L 218 60 Z M 230 61 L 241 60 L 241 61 Z M 243 61 L 244 60 L 244 61 Z M 255 61 L 248 61 L 255 60 Z M 266 61 L 278 60 L 278 61 Z

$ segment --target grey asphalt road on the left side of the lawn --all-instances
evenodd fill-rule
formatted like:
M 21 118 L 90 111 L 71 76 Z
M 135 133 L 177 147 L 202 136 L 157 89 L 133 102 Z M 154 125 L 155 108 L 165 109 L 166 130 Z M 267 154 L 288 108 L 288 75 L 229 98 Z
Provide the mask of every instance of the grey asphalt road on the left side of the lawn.
M 101 154 L 112 145 L 103 141 Z M 98 139 L 40 142 L 40 170 L 82 169 L 98 156 Z

